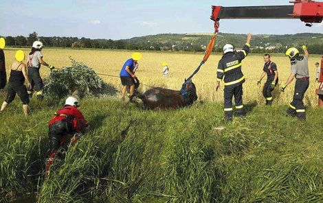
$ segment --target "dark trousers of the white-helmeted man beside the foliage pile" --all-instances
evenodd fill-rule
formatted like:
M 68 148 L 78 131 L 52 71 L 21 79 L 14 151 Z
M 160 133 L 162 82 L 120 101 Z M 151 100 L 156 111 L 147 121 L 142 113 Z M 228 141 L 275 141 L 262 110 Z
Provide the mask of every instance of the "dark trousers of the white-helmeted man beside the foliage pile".
M 43 99 L 43 80 L 41 79 L 41 74 L 39 69 L 36 67 L 28 68 L 28 78 L 32 87 L 28 90 L 28 94 L 32 95 L 32 91 L 36 91 L 36 96 L 38 99 Z

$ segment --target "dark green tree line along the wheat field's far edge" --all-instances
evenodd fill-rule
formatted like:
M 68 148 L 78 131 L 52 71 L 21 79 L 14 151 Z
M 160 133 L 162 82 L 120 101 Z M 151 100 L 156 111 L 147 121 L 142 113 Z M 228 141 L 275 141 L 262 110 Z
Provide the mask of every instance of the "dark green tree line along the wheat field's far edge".
M 232 38 L 232 40 L 234 40 Z M 131 49 L 131 50 L 155 50 L 155 51 L 205 51 L 205 46 L 196 43 L 183 42 L 181 44 L 150 40 L 107 40 L 107 39 L 90 39 L 77 37 L 45 37 L 38 36 L 36 32 L 29 36 L 6 36 L 5 43 L 11 47 L 31 47 L 35 40 L 40 40 L 45 47 L 71 47 L 71 48 L 94 48 L 94 49 Z M 222 44 L 222 43 L 221 43 Z M 216 45 L 214 51 L 221 52 L 222 46 Z M 223 44 L 224 45 L 224 44 Z M 310 53 L 322 54 L 323 43 L 315 43 L 308 46 Z M 260 49 L 253 47 L 254 53 L 285 53 L 285 47 L 275 47 L 274 49 Z

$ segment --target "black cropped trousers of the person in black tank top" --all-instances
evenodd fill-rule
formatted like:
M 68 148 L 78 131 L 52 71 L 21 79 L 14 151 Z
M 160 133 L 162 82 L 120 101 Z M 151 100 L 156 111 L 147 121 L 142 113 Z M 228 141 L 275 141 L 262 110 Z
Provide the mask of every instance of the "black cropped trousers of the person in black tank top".
M 10 104 L 12 101 L 14 101 L 16 94 L 20 97 L 23 104 L 29 104 L 29 97 L 27 94 L 26 86 L 24 84 L 15 84 L 13 82 L 9 82 L 8 93 L 7 97 L 5 97 L 5 102 Z

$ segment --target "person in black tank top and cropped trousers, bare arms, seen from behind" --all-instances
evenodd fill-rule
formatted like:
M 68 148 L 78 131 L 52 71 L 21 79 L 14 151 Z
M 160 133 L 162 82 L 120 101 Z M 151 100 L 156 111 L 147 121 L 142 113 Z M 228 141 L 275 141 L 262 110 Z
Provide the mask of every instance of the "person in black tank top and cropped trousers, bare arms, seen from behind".
M 5 107 L 7 107 L 8 104 L 14 100 L 16 94 L 18 94 L 23 102 L 23 113 L 27 116 L 29 97 L 24 82 L 27 82 L 28 87 L 30 87 L 30 82 L 27 77 L 27 67 L 22 62 L 24 58 L 25 54 L 23 51 L 19 50 L 16 52 L 16 61 L 14 61 L 10 66 L 11 72 L 9 77 L 8 93 L 5 97 L 5 101 L 3 101 L 0 112 L 3 112 Z

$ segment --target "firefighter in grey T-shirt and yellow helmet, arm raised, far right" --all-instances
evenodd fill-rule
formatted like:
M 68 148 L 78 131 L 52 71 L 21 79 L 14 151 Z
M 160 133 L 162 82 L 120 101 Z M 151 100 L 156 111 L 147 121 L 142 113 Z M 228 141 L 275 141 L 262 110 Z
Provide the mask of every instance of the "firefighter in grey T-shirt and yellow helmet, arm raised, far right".
M 291 47 L 286 51 L 286 55 L 289 56 L 291 61 L 291 75 L 286 84 L 282 85 L 281 91 L 285 91 L 287 85 L 289 85 L 294 77 L 296 78 L 295 90 L 293 95 L 293 101 L 287 109 L 287 115 L 297 116 L 300 120 L 306 119 L 305 106 L 303 103 L 304 94 L 309 88 L 309 51 L 307 47 L 302 45 L 304 56 L 300 56 L 300 51 L 295 47 Z

